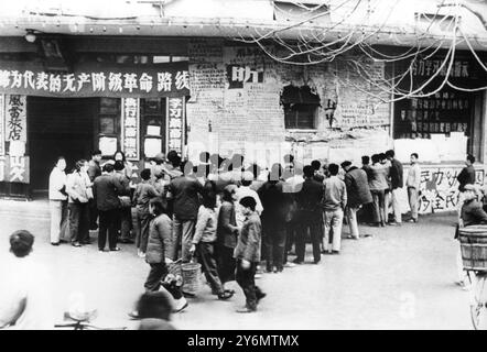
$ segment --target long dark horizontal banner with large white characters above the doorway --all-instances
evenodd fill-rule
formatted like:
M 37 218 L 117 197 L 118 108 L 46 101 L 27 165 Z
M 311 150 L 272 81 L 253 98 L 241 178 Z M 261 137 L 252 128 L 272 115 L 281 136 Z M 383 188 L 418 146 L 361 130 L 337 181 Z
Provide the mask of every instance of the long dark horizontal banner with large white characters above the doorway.
M 51 97 L 170 97 L 190 94 L 187 63 L 121 68 L 79 64 L 73 73 L 66 74 L 46 73 L 34 64 L 11 65 L 0 62 L 0 92 Z

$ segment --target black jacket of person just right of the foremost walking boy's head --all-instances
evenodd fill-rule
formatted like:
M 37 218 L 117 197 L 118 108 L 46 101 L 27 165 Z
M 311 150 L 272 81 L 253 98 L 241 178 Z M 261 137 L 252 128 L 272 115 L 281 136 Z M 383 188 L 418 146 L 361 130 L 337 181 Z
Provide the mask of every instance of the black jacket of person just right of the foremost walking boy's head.
M 283 183 L 267 182 L 257 193 L 262 202 L 262 218 L 284 222 L 291 212 L 292 198 L 283 191 Z M 280 223 L 277 223 L 280 224 Z

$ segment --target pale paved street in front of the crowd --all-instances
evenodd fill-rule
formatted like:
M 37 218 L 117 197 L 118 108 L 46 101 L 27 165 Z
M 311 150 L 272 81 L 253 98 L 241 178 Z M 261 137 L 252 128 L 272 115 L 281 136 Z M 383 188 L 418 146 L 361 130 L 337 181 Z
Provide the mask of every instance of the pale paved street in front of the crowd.
M 259 312 L 235 312 L 244 304 L 236 283 L 230 286 L 238 294 L 230 301 L 217 300 L 205 285 L 173 322 L 180 329 L 470 329 L 468 294 L 454 284 L 453 222 L 453 216 L 437 215 L 400 228 L 362 227 L 374 237 L 344 240 L 340 255 L 264 274 L 258 285 L 268 297 Z M 127 312 L 148 274 L 133 245 L 121 244 L 118 253 L 99 253 L 95 244 L 51 246 L 42 201 L 0 201 L 0 261 L 12 231 L 36 235 L 34 255 L 52 270 L 59 320 L 69 295 L 82 293 L 88 306 L 98 308 L 97 324 L 133 323 Z

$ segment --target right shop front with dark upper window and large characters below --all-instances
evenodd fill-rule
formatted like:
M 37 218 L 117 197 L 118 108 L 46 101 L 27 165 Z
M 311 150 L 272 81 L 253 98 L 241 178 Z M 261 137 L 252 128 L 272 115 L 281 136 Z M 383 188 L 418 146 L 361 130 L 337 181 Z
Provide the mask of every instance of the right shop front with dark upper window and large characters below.
M 400 99 L 393 108 L 398 158 L 408 162 L 411 153 L 420 156 L 422 213 L 456 209 L 456 177 L 467 154 L 476 158 L 477 184 L 485 183 L 487 75 L 472 53 L 457 52 L 454 59 L 445 54 L 421 57 L 412 64 L 399 88 L 409 91 L 423 86 L 421 97 Z M 410 63 L 397 65 L 396 75 L 405 72 L 407 65 Z M 407 172 L 408 165 L 404 176 Z M 405 191 L 403 198 L 405 201 Z

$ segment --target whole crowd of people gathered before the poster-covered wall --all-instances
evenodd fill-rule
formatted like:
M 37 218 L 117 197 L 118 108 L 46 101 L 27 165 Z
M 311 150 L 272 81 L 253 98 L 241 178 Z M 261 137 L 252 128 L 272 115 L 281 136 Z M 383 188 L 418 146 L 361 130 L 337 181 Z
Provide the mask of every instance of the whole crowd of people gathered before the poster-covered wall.
M 65 168 L 58 157 L 50 177 L 51 243 L 86 245 L 89 231 L 97 229 L 100 252 L 119 251 L 118 242 L 134 243 L 150 265 L 145 290 L 163 285 L 177 309 L 187 302 L 177 279 L 167 275 L 176 261 L 197 261 L 221 300 L 235 294 L 226 283 L 237 280 L 247 297 L 242 311 L 250 312 L 266 296 L 255 284 L 261 263 L 268 273 L 303 264 L 311 242 L 318 264 L 322 254 L 339 254 L 344 221 L 350 239 L 359 239 L 360 219 L 375 227 L 402 221 L 398 191 L 404 186 L 403 169 L 392 150 L 364 156 L 360 168 L 349 161 L 303 166 L 288 154 L 267 169 L 246 164 L 240 154 L 224 158 L 203 152 L 194 165 L 171 151 L 158 154 L 137 185 L 121 151 L 105 161 L 95 151 L 72 173 Z M 414 153 L 405 180 L 413 222 L 420 174 Z

